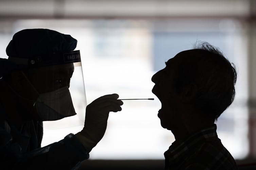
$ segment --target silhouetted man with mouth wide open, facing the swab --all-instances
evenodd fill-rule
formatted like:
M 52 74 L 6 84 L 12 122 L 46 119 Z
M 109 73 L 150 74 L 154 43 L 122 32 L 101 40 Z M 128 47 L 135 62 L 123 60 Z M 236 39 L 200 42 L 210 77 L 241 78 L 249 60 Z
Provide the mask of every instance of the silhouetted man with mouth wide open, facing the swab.
M 235 67 L 208 43 L 178 53 L 152 76 L 161 125 L 175 136 L 164 153 L 166 170 L 237 169 L 214 124 L 234 100 L 236 78 Z

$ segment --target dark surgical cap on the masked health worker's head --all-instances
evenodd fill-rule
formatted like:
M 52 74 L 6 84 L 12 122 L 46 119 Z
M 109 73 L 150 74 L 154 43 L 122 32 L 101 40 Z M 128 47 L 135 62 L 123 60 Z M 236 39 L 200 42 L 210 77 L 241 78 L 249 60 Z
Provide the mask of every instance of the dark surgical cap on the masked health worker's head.
M 70 35 L 50 29 L 24 29 L 14 34 L 6 48 L 10 57 L 30 58 L 31 56 L 72 51 L 77 40 Z

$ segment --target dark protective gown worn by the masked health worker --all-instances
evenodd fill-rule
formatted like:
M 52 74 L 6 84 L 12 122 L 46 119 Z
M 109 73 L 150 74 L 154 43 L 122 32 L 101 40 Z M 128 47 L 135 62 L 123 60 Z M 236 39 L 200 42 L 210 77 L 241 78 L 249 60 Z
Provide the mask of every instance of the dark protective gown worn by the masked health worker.
M 0 104 L 0 169 L 77 169 L 89 153 L 70 133 L 63 140 L 41 148 L 41 121 L 28 121 L 19 129 L 5 116 Z

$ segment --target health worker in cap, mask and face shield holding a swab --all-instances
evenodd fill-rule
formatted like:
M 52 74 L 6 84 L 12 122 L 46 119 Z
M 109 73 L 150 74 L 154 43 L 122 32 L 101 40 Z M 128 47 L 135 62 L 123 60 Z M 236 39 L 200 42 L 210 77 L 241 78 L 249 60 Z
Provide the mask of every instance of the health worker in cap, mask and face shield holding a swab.
M 14 34 L 0 59 L 0 169 L 73 169 L 104 136 L 109 112 L 121 111 L 117 94 L 86 107 L 85 126 L 41 148 L 42 121 L 76 114 L 69 91 L 80 60 L 77 40 L 49 29 Z M 80 65 L 81 66 L 81 65 Z M 80 82 L 83 84 L 83 77 Z

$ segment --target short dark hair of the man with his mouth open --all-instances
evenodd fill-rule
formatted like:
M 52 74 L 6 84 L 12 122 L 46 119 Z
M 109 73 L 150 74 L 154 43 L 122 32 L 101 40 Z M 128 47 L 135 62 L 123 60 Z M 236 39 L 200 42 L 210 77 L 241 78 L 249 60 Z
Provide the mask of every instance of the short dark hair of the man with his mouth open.
M 196 42 L 194 53 L 178 66 L 177 91 L 186 84 L 195 84 L 198 95 L 195 100 L 200 111 L 217 118 L 235 98 L 236 68 L 224 57 L 219 48 L 207 42 Z

